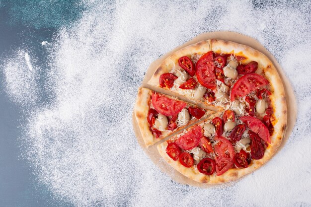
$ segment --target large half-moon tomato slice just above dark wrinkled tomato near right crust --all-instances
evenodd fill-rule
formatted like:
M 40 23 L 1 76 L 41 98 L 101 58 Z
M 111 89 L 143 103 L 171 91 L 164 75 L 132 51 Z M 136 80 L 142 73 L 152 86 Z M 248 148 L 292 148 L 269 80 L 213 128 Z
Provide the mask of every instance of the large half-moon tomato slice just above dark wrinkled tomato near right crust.
M 257 118 L 250 116 L 240 117 L 240 120 L 254 133 L 258 134 L 260 138 L 268 143 L 271 143 L 268 128 Z

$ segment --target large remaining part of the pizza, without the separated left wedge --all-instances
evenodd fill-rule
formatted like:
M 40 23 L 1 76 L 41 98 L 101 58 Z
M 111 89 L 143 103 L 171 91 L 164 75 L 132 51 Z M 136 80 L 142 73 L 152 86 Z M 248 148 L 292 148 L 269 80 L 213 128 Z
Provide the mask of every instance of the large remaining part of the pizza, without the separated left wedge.
M 253 172 L 272 158 L 285 135 L 282 80 L 251 47 L 198 42 L 166 58 L 148 84 L 214 111 L 157 145 L 170 166 L 194 181 L 225 183 Z

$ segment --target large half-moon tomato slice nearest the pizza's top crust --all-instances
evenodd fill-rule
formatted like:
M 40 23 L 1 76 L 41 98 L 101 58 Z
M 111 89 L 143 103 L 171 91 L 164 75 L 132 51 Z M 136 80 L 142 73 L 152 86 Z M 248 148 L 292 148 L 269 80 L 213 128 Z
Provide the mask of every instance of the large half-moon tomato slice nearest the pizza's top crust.
M 197 62 L 195 74 L 201 85 L 216 88 L 216 76 L 213 62 L 213 51 L 204 54 Z

